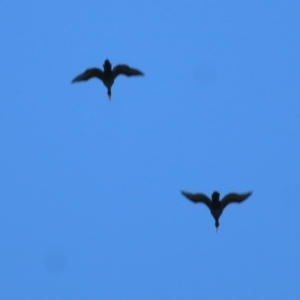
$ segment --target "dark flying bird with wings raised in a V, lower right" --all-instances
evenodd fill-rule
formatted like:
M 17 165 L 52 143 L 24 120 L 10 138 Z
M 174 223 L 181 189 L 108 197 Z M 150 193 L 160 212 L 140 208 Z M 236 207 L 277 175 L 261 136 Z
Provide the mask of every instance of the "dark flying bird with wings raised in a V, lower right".
M 216 230 L 219 228 L 219 218 L 223 213 L 225 207 L 230 203 L 241 203 L 246 200 L 249 196 L 251 196 L 252 192 L 243 193 L 243 194 L 236 194 L 230 193 L 227 194 L 221 201 L 220 201 L 220 194 L 218 192 L 213 192 L 211 195 L 211 199 L 204 194 L 191 194 L 186 192 L 181 192 L 189 200 L 193 201 L 194 203 L 204 203 L 210 210 L 212 216 L 215 219 L 215 226 Z

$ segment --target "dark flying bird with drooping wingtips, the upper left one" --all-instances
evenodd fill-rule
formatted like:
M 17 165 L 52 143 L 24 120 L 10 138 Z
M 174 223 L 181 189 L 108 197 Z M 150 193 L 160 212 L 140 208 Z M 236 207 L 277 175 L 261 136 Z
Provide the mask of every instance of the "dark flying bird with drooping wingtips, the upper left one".
M 87 69 L 82 74 L 78 75 L 72 80 L 72 83 L 78 81 L 87 81 L 90 78 L 96 77 L 100 79 L 103 84 L 107 87 L 107 95 L 110 99 L 111 97 L 111 87 L 114 84 L 114 81 L 118 75 L 144 75 L 141 71 L 137 69 L 130 68 L 127 65 L 116 65 L 113 69 L 111 68 L 111 63 L 108 59 L 105 60 L 103 64 L 104 71 L 98 68 Z

